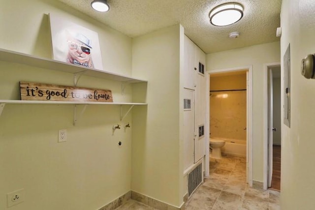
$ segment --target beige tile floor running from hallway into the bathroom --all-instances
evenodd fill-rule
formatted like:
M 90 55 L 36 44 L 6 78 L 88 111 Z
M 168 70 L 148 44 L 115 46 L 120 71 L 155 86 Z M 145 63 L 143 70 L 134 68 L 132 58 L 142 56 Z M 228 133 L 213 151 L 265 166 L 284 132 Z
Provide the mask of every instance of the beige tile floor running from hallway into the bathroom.
M 210 177 L 189 198 L 186 210 L 280 210 L 280 192 L 246 183 L 246 158 L 210 158 Z M 129 200 L 117 210 L 156 210 Z

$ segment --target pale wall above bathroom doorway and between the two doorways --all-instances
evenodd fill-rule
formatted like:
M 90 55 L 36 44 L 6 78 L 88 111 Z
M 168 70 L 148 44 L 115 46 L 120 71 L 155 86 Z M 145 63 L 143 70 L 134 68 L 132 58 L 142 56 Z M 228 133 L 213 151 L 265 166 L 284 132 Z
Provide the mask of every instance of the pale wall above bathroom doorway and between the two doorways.
M 263 182 L 263 71 L 264 63 L 279 62 L 280 43 L 272 42 L 207 55 L 207 70 L 252 66 L 253 180 Z

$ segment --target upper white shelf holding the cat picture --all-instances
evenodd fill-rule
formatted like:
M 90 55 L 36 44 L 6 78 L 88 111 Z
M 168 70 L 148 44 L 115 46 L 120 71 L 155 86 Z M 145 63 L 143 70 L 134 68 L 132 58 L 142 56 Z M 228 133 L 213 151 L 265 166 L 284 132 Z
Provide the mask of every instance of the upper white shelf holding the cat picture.
M 147 80 L 136 79 L 133 77 L 127 77 L 121 74 L 116 74 L 108 71 L 103 71 L 95 68 L 86 68 L 71 63 L 62 62 L 59 60 L 51 60 L 45 58 L 39 58 L 36 56 L 13 52 L 0 48 L 0 60 L 26 64 L 34 67 L 46 68 L 51 70 L 69 72 L 73 74 L 83 74 L 86 76 L 92 76 L 97 78 L 103 78 L 108 80 L 114 80 L 124 83 L 143 83 Z

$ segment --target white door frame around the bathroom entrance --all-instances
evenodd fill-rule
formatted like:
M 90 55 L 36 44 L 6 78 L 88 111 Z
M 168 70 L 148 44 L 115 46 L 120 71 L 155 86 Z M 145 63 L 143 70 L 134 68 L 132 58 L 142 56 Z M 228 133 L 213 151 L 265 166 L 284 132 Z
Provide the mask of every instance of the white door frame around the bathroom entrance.
M 232 71 L 240 71 L 248 69 L 249 71 L 249 100 L 247 101 L 247 106 L 249 108 L 249 115 L 247 116 L 247 124 L 249 125 L 249 128 L 247 128 L 249 139 L 246 144 L 247 151 L 248 151 L 248 172 L 247 172 L 247 180 L 249 185 L 252 187 L 252 160 L 253 160 L 253 154 L 252 154 L 252 65 L 250 66 L 243 66 L 243 67 L 235 67 L 235 68 L 225 68 L 225 69 L 216 69 L 216 70 L 209 70 L 206 72 L 206 86 L 207 86 L 207 92 L 206 92 L 206 103 L 207 103 L 207 109 L 206 109 L 206 128 L 205 131 L 207 133 L 206 135 L 206 157 L 205 158 L 205 176 L 209 177 L 209 134 L 210 133 L 210 99 L 209 99 L 209 92 L 210 92 L 210 74 L 213 73 L 224 73 L 224 72 L 232 72 Z

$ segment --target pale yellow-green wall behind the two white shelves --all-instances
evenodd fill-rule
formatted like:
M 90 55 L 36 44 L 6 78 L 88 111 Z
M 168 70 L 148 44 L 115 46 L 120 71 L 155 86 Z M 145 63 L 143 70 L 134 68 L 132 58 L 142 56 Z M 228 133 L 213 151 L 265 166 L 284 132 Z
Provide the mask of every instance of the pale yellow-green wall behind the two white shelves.
M 1 48 L 51 59 L 47 13 L 98 33 L 104 70 L 131 75 L 131 39 L 59 1 L 1 0 Z M 19 81 L 73 85 L 73 74 L 0 61 L 0 99 L 19 99 Z M 131 101 L 121 83 L 81 77 L 79 87 L 110 89 Z M 79 108 L 80 110 L 82 107 Z M 119 106 L 88 106 L 73 126 L 73 105 L 10 105 L 0 116 L 0 209 L 6 193 L 25 190 L 14 210 L 96 210 L 131 189 L 131 129 L 112 132 Z M 67 141 L 57 143 L 58 130 Z M 121 147 L 118 142 L 122 141 Z

